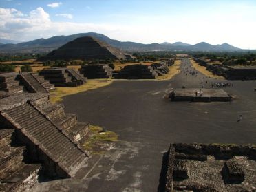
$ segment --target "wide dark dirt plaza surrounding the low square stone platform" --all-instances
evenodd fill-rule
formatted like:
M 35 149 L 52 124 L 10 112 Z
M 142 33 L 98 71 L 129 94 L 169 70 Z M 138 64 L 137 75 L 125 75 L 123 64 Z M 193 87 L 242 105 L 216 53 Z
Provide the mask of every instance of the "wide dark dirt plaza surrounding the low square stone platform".
M 173 142 L 255 143 L 255 81 L 226 81 L 181 72 L 169 81 L 114 81 L 111 85 L 66 96 L 65 111 L 82 122 L 118 134 L 105 153 L 89 159 L 83 180 L 68 179 L 36 184 L 34 191 L 162 191 L 163 154 Z M 204 83 L 202 83 L 204 81 Z M 206 83 L 207 81 L 207 83 Z M 232 102 L 171 102 L 170 88 L 211 88 L 211 83 L 232 83 L 223 88 Z M 242 120 L 239 116 L 242 114 Z

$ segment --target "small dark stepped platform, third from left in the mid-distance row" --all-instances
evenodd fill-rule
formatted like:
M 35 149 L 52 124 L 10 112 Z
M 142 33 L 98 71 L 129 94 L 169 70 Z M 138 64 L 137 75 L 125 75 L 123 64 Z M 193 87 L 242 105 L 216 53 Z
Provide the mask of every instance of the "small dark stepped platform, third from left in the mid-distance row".
M 95 64 L 83 65 L 81 74 L 87 78 L 112 78 L 112 68 L 109 65 Z

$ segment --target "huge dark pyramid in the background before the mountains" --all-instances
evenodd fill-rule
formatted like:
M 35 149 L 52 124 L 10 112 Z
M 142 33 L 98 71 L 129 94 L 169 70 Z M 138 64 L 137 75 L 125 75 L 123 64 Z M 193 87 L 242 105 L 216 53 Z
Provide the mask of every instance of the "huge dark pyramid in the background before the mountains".
M 39 58 L 39 60 L 91 60 L 107 58 L 125 59 L 125 53 L 103 41 L 98 41 L 98 39 L 92 36 L 83 36 L 66 43 L 57 50 L 53 50 L 47 56 Z

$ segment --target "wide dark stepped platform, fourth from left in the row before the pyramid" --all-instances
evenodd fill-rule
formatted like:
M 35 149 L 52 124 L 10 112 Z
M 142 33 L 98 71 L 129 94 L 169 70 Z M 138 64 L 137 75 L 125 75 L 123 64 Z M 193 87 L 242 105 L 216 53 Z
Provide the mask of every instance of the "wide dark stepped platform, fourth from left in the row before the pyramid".
M 116 78 L 125 79 L 153 79 L 157 78 L 158 73 L 153 67 L 142 64 L 127 65 L 120 70 Z

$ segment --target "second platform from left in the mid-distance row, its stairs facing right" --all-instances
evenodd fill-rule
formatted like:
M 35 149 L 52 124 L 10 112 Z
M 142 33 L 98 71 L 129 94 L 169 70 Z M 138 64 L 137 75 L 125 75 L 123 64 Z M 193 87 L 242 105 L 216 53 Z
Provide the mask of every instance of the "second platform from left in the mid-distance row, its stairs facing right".
M 76 87 L 87 81 L 83 75 L 71 68 L 49 68 L 41 70 L 39 74 L 55 87 Z

